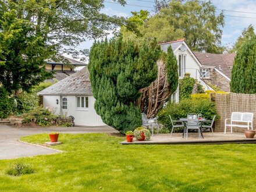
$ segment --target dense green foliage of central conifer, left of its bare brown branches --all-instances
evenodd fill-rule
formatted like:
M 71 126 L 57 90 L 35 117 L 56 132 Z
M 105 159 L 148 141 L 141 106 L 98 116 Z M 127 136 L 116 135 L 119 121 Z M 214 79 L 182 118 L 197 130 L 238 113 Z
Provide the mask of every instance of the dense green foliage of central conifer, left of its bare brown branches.
M 125 42 L 122 37 L 94 42 L 88 69 L 96 99 L 94 108 L 104 123 L 121 133 L 141 126 L 136 101 L 140 89 L 157 77 L 160 53 L 156 41 L 142 47 Z

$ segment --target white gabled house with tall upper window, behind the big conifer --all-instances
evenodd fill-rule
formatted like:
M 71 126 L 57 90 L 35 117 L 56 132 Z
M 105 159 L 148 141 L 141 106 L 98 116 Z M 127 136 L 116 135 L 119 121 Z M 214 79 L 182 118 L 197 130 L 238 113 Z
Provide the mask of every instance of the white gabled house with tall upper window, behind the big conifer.
M 172 47 L 173 53 L 175 54 L 178 62 L 179 79 L 183 79 L 185 73 L 190 73 L 190 77 L 198 80 L 200 84 L 205 87 L 205 90 L 212 90 L 212 88 L 207 85 L 204 78 L 202 78 L 203 66 L 187 46 L 184 39 L 162 42 L 160 43 L 160 46 L 164 52 L 167 52 L 168 47 Z M 179 102 L 179 87 L 172 95 L 172 100 Z

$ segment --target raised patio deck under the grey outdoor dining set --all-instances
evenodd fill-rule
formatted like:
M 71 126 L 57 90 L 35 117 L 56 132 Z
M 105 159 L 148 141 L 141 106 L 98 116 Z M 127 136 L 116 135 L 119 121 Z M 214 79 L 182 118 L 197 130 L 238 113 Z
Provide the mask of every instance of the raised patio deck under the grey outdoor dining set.
M 170 134 L 155 134 L 148 141 L 137 141 L 136 138 L 133 142 L 123 141 L 120 144 L 226 144 L 226 143 L 256 143 L 256 137 L 246 138 L 244 133 L 226 133 L 215 132 L 214 137 L 212 133 L 203 133 L 204 138 L 199 139 L 198 133 L 189 133 L 188 138 L 182 138 L 182 133 L 173 133 L 172 139 Z

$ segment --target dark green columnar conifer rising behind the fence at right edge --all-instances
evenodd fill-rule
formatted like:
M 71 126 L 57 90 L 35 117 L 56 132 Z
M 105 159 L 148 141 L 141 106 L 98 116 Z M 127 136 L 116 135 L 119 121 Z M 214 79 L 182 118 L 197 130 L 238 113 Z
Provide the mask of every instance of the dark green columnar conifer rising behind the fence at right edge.
M 230 90 L 233 93 L 256 93 L 256 36 L 244 43 L 237 51 Z

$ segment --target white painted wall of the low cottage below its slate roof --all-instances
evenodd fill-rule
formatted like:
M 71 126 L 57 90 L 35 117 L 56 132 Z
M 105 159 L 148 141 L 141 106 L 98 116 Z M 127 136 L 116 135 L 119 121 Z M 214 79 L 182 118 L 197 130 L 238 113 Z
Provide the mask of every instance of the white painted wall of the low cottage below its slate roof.
M 87 95 L 83 95 L 86 96 Z M 76 107 L 76 96 L 67 96 L 67 112 L 62 112 L 62 97 L 59 96 L 44 96 L 43 102 L 44 107 L 51 106 L 55 108 L 56 115 L 72 115 L 74 117 L 75 125 L 80 126 L 104 126 L 105 123 L 102 122 L 102 119 L 94 109 L 95 98 L 93 96 L 88 96 L 88 108 L 86 109 L 77 109 Z M 59 99 L 59 104 L 56 104 L 56 99 Z

